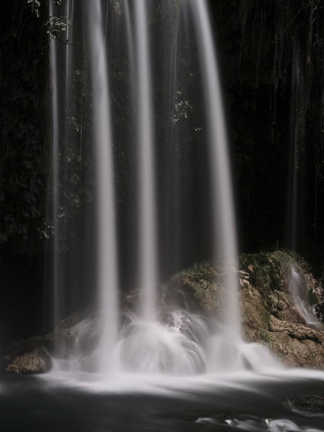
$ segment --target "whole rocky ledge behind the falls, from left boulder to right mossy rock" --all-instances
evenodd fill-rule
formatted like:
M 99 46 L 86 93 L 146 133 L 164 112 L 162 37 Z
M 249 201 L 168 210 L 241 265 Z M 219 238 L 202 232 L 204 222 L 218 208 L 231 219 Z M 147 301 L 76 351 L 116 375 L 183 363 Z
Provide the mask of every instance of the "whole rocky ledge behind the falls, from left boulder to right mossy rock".
M 226 296 L 217 281 L 222 273 L 222 268 L 210 263 L 196 264 L 161 286 L 160 300 L 165 305 L 221 316 Z M 239 282 L 245 340 L 268 346 L 287 366 L 324 369 L 323 286 L 307 263 L 285 251 L 242 254 Z M 132 308 L 137 295 L 123 297 L 123 308 Z M 54 333 L 15 342 L 2 358 L 1 369 L 8 373 L 49 371 L 54 339 L 60 340 L 61 356 L 68 357 L 73 328 L 90 313 L 93 311 L 74 313 L 59 323 Z M 305 317 L 305 313 L 309 315 Z

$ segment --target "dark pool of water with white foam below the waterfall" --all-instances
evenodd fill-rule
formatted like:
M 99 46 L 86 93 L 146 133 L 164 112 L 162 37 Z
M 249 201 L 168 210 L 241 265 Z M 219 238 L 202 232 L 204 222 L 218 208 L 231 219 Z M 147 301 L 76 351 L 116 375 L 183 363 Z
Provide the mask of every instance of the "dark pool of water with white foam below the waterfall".
M 0 430 L 324 432 L 324 412 L 291 400 L 321 395 L 319 371 L 172 377 L 52 373 L 0 382 Z

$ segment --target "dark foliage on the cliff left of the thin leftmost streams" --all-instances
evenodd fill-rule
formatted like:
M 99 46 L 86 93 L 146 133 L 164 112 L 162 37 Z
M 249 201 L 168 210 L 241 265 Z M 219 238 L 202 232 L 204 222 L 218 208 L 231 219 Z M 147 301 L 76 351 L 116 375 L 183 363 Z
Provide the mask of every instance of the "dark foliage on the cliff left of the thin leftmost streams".
M 43 25 L 48 10 L 46 2 L 29 0 L 1 8 L 6 13 L 1 13 L 0 242 L 32 254 L 50 228 L 45 222 L 48 43 Z

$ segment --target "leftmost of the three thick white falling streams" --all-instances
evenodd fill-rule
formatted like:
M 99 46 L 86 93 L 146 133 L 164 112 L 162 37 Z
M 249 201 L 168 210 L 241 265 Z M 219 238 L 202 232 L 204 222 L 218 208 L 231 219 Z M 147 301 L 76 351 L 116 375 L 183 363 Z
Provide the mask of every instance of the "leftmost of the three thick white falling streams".
M 119 306 L 117 293 L 118 264 L 114 204 L 114 167 L 112 161 L 112 126 L 108 90 L 107 56 L 103 35 L 100 0 L 85 2 L 89 17 L 92 66 L 93 139 L 97 161 L 97 239 L 98 288 L 101 327 L 97 371 L 112 373 L 117 369 L 114 350 L 118 335 Z

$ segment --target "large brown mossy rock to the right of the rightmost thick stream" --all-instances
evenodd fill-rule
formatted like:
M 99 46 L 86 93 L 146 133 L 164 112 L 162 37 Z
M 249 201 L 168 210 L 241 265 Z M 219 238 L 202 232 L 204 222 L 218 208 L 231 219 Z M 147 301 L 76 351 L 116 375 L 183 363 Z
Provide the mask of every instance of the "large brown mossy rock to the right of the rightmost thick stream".
M 287 366 L 324 369 L 324 326 L 322 331 L 315 315 L 314 323 L 305 322 L 294 304 L 290 263 L 300 272 L 305 299 L 321 299 L 323 287 L 301 257 L 285 251 L 243 254 L 241 268 L 249 275 L 241 284 L 243 332 L 247 342 L 269 346 Z

